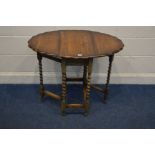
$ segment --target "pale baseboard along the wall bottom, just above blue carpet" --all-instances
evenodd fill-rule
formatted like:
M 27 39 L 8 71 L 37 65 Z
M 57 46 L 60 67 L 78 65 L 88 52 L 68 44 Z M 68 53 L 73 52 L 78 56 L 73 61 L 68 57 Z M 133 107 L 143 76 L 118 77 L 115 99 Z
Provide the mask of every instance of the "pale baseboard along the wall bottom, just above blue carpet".
M 69 73 L 69 76 L 76 76 Z M 106 81 L 106 74 L 94 73 L 92 83 L 103 84 Z M 38 84 L 39 74 L 37 72 L 1 72 L 0 84 Z M 44 73 L 44 83 L 61 83 L 60 73 Z M 111 74 L 112 84 L 155 84 L 155 73 L 113 73 Z

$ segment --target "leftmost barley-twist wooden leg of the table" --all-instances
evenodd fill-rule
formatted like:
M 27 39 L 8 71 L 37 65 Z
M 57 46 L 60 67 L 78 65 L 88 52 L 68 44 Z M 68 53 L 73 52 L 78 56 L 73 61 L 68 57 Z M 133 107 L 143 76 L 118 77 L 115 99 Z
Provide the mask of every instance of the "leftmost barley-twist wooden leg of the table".
M 42 73 L 42 56 L 37 54 L 38 63 L 39 63 L 39 75 L 40 75 L 40 96 L 41 99 L 44 97 L 44 84 L 43 84 L 43 73 Z

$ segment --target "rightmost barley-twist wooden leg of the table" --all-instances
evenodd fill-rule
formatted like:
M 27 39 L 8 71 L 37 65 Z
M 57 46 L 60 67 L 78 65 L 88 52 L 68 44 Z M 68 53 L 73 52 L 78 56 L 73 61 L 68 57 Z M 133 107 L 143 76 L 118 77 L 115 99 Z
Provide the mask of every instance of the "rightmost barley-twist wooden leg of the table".
M 110 82 L 110 74 L 111 74 L 113 59 L 114 59 L 114 55 L 110 55 L 109 56 L 109 67 L 108 67 L 107 81 L 106 81 L 105 88 L 104 88 L 104 101 L 107 99 L 108 93 L 109 93 L 108 86 L 109 86 L 109 82 Z

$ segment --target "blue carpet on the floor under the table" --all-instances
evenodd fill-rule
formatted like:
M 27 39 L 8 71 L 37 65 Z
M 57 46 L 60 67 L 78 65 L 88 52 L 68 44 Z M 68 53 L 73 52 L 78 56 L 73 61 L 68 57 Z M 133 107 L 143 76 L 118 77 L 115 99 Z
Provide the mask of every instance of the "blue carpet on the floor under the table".
M 46 85 L 60 92 L 60 85 Z M 80 102 L 81 85 L 69 85 L 69 101 Z M 75 98 L 72 99 L 71 98 Z M 91 90 L 90 113 L 77 109 L 60 115 L 60 103 L 46 97 L 40 101 L 38 85 L 0 85 L 1 129 L 154 129 L 155 85 L 110 85 L 107 104 Z

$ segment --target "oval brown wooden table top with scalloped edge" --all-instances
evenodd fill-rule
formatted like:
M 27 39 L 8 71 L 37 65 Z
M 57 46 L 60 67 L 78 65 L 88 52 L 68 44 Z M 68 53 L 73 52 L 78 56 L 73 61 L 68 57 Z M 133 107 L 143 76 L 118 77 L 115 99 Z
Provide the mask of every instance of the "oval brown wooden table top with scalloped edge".
M 117 37 L 88 30 L 59 30 L 33 36 L 34 51 L 56 58 L 94 58 L 115 54 L 124 44 Z

